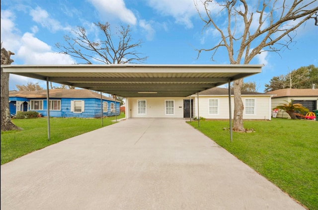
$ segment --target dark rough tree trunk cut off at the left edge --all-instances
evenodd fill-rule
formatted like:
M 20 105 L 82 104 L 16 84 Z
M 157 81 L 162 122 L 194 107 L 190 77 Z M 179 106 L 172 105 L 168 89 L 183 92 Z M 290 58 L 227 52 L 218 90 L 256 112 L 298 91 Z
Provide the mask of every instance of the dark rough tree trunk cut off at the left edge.
M 10 65 L 13 60 L 10 59 L 14 53 L 6 51 L 2 48 L 1 43 L 1 66 Z M 9 73 L 3 72 L 1 68 L 1 131 L 21 130 L 19 127 L 11 122 L 10 110 L 9 110 Z

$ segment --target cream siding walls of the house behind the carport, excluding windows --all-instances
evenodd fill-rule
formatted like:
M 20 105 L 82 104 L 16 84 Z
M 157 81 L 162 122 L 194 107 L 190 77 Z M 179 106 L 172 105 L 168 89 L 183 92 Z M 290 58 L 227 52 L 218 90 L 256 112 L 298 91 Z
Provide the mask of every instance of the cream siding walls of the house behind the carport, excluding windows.
M 183 118 L 183 100 L 188 98 L 126 98 L 126 118 Z M 197 97 L 193 99 L 193 117 L 198 116 Z M 217 114 L 209 114 L 209 99 L 218 100 Z M 270 120 L 271 97 L 270 96 L 242 96 L 245 107 L 245 99 L 254 99 L 254 114 L 243 114 L 243 119 Z M 146 114 L 138 114 L 138 100 L 146 100 Z M 174 100 L 174 114 L 165 114 L 165 100 Z M 229 97 L 227 96 L 199 96 L 199 116 L 206 119 L 229 119 Z M 232 97 L 232 118 L 234 113 L 234 99 Z

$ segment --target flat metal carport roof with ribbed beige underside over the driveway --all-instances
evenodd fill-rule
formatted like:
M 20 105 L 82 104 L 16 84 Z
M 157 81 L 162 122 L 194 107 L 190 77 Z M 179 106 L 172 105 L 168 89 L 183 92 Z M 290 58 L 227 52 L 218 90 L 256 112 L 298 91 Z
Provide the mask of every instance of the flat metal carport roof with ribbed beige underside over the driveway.
M 4 72 L 122 97 L 186 97 L 263 65 L 3 65 Z

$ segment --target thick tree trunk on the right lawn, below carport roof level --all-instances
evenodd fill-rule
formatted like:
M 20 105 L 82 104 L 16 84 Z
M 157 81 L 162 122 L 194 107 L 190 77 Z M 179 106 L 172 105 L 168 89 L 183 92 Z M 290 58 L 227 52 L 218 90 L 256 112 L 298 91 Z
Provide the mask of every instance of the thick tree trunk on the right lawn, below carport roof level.
M 234 83 L 234 115 L 233 115 L 233 131 L 245 132 L 243 127 L 243 111 L 244 105 L 241 99 L 241 87 L 243 79 L 239 79 Z

